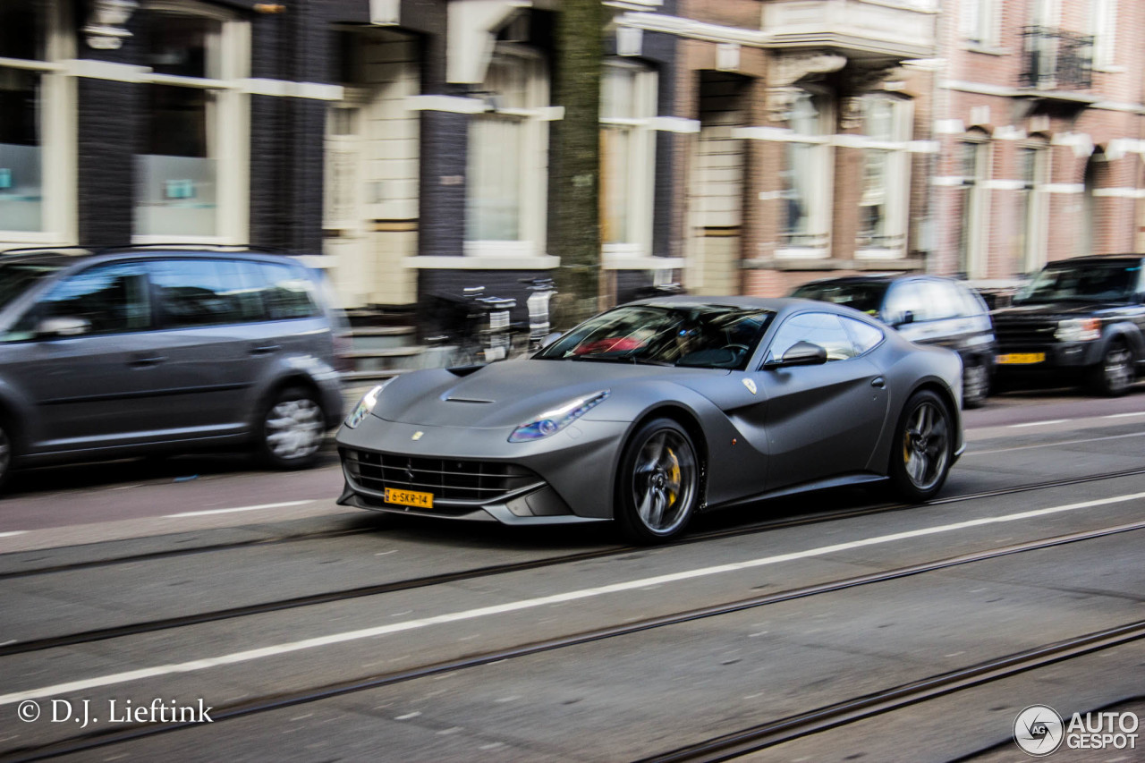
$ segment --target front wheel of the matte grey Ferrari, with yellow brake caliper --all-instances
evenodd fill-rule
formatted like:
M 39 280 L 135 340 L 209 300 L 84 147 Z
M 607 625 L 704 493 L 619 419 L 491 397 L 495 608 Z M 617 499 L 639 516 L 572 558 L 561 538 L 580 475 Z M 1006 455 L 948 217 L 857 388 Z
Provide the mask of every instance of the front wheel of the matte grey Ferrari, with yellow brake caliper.
M 662 543 L 687 527 L 700 504 L 701 464 L 687 431 L 652 419 L 629 440 L 616 475 L 615 518 L 634 543 Z

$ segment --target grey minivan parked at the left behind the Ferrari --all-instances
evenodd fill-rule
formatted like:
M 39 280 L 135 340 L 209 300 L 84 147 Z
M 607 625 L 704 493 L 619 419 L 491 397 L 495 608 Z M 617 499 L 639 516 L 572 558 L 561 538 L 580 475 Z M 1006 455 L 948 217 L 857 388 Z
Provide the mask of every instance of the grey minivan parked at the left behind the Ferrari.
M 281 255 L 0 257 L 0 479 L 11 466 L 252 446 L 315 462 L 342 414 L 339 316 Z

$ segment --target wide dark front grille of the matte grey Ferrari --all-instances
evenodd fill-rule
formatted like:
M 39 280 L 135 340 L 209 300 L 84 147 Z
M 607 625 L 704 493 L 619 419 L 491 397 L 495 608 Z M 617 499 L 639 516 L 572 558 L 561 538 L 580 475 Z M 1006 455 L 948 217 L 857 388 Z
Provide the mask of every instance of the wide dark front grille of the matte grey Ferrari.
M 363 489 L 420 490 L 436 501 L 489 501 L 543 480 L 535 472 L 493 461 L 416 458 L 341 448 L 342 463 Z

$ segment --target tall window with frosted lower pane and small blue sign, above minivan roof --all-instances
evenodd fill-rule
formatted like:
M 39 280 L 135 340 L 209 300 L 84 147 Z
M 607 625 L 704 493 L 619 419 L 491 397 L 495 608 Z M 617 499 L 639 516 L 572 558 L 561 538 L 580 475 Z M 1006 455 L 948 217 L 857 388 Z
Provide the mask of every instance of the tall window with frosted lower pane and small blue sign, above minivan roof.
M 151 68 L 135 157 L 135 239 L 246 239 L 246 25 L 194 3 L 150 3 Z

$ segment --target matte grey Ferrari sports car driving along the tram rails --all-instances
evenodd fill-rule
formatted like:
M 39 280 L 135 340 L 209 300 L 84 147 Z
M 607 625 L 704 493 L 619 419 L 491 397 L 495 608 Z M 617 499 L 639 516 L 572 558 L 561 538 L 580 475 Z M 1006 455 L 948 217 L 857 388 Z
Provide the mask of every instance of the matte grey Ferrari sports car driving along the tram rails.
M 623 305 L 528 360 L 374 387 L 338 433 L 339 503 L 663 541 L 698 511 L 885 482 L 942 487 L 962 363 L 847 307 L 670 297 Z

